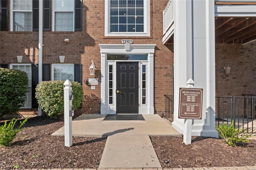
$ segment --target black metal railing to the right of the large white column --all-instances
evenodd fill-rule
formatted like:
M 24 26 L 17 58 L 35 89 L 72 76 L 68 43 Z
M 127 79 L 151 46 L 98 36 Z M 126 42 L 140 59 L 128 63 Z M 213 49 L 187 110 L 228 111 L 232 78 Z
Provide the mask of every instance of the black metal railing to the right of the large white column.
M 248 133 L 256 132 L 256 97 L 216 97 L 216 124 L 231 124 L 243 128 Z

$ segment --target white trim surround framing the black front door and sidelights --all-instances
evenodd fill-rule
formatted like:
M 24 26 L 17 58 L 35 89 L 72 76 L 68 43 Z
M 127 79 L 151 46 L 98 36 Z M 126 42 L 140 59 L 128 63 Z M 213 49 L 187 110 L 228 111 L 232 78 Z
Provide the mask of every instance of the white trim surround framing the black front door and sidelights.
M 131 44 L 129 49 L 125 44 L 99 44 L 101 53 L 101 107 L 100 114 L 116 114 L 116 97 L 113 95 L 113 104 L 108 104 L 108 65 L 113 65 L 116 70 L 116 62 L 123 60 L 107 60 L 107 54 L 148 54 L 148 60 L 132 60 L 139 63 L 139 114 L 154 114 L 154 52 L 156 44 Z M 127 61 L 127 60 L 126 60 Z M 142 65 L 146 65 L 146 104 L 141 104 L 141 72 Z M 116 80 L 116 74 L 113 74 L 113 80 Z M 113 83 L 113 91 L 116 91 L 116 83 Z

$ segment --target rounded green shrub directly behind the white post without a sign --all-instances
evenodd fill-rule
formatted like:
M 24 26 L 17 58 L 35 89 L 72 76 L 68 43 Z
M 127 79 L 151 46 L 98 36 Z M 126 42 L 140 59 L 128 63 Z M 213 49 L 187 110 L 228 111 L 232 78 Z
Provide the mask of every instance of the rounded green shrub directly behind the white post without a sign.
M 82 103 L 82 85 L 76 81 L 72 83 L 74 99 L 73 110 Z M 64 81 L 42 81 L 36 86 L 36 99 L 42 111 L 51 118 L 59 118 L 64 114 Z

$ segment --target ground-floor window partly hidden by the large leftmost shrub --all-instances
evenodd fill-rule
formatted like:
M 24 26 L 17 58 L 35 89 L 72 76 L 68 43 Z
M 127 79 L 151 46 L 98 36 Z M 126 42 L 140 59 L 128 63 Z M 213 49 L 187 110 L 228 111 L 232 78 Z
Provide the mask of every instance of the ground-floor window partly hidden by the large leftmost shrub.
M 10 64 L 10 69 L 25 71 L 28 75 L 28 92 L 26 93 L 26 103 L 21 108 L 32 107 L 32 68 L 31 64 Z

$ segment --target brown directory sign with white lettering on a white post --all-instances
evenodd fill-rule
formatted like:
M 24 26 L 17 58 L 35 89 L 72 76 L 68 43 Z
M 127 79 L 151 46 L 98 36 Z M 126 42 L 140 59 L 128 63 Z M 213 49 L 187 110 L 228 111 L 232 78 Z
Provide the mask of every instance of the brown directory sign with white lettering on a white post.
M 202 119 L 203 89 L 180 88 L 179 119 Z

